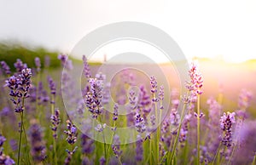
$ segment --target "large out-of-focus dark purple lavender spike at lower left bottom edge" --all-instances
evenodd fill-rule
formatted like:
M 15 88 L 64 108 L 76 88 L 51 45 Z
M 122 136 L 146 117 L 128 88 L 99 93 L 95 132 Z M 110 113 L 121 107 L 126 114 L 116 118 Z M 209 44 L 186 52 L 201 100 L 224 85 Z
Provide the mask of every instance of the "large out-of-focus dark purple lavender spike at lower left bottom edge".
M 42 128 L 36 120 L 31 121 L 29 137 L 31 140 L 31 155 L 34 162 L 42 162 L 46 158 L 46 148 L 43 140 Z

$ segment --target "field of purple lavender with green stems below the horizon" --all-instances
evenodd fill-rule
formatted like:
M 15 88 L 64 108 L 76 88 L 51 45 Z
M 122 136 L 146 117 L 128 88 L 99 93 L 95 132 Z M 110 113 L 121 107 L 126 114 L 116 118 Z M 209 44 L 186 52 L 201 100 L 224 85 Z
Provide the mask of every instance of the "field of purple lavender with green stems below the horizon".
M 170 88 L 132 70 L 109 82 L 85 56 L 58 61 L 61 69 L 47 58 L 16 59 L 15 70 L 1 61 L 0 164 L 256 163 L 255 82 L 240 88 L 236 75 L 216 85 L 192 62 L 182 92 L 174 76 Z M 73 65 L 82 65 L 80 80 Z

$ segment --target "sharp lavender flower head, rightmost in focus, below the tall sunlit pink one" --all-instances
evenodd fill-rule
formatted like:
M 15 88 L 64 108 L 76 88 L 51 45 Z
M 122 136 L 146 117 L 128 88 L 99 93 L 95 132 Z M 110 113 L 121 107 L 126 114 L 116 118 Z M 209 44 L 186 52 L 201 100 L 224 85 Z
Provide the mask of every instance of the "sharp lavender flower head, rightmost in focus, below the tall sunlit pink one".
M 220 128 L 224 131 L 222 139 L 223 145 L 230 147 L 232 144 L 232 125 L 235 123 L 235 112 L 224 112 L 224 116 L 220 117 Z

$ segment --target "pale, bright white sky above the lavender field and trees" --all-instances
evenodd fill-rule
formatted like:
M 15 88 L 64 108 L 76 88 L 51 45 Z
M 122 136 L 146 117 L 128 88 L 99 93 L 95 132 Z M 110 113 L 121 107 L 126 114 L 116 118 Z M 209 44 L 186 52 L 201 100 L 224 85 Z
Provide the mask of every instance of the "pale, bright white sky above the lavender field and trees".
M 188 58 L 241 62 L 256 59 L 255 20 L 254 0 L 0 0 L 0 40 L 11 39 L 67 54 L 100 26 L 139 21 L 166 31 Z M 107 47 L 98 53 L 119 53 L 109 49 L 113 45 Z M 125 45 L 119 48 L 125 50 Z M 151 52 L 148 46 L 145 49 Z

